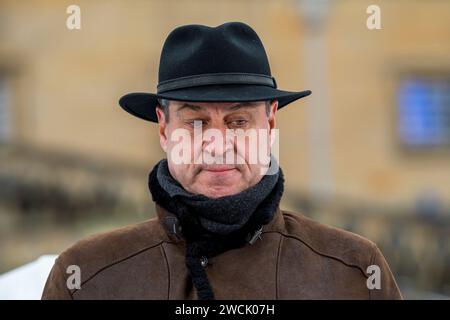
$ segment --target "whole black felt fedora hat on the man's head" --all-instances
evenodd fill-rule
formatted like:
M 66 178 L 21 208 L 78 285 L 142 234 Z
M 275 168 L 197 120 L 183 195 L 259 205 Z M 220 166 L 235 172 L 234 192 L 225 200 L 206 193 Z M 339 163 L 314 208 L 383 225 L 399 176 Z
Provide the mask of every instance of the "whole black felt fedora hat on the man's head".
M 277 89 L 264 46 L 241 22 L 217 27 L 185 25 L 167 37 L 159 64 L 157 93 L 135 92 L 120 106 L 141 119 L 157 122 L 158 99 L 198 102 L 278 100 L 278 108 L 311 91 Z

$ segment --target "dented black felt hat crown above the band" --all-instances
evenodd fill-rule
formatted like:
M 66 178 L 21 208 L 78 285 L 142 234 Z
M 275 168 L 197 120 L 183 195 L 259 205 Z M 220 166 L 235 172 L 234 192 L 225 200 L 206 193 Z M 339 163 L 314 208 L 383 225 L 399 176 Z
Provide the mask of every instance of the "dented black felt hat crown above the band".
M 245 23 L 217 27 L 185 25 L 164 42 L 159 82 L 200 74 L 252 73 L 271 76 L 264 46 Z

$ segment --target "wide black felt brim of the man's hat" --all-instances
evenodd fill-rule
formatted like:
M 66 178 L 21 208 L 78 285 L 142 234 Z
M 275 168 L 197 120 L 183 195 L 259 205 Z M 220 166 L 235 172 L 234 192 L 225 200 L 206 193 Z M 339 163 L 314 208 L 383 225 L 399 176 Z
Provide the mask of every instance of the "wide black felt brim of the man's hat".
M 161 94 L 135 92 L 124 95 L 119 105 L 132 115 L 158 122 L 158 99 L 190 102 L 251 102 L 278 100 L 278 109 L 295 100 L 309 96 L 310 90 L 291 92 L 261 85 L 208 85 L 167 91 Z

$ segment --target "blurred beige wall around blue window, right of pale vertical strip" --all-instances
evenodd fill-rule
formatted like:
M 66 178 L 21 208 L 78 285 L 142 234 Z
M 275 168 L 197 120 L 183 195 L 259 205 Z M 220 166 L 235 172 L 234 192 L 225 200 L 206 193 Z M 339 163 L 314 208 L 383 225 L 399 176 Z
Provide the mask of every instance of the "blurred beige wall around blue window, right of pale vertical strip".
M 449 204 L 450 153 L 407 153 L 396 140 L 401 72 L 450 70 L 450 2 L 377 1 L 382 30 L 360 13 L 372 1 L 342 1 L 328 28 L 333 172 L 342 194 L 411 203 L 435 190 Z

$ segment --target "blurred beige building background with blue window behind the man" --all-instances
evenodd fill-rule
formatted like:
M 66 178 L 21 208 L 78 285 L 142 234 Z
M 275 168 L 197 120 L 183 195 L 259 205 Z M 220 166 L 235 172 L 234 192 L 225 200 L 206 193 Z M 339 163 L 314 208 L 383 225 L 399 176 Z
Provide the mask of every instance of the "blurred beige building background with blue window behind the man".
M 376 242 L 405 298 L 450 298 L 444 0 L 0 0 L 0 274 L 154 216 L 156 125 L 117 101 L 156 90 L 172 29 L 227 21 L 257 31 L 280 88 L 313 91 L 278 113 L 282 207 Z

